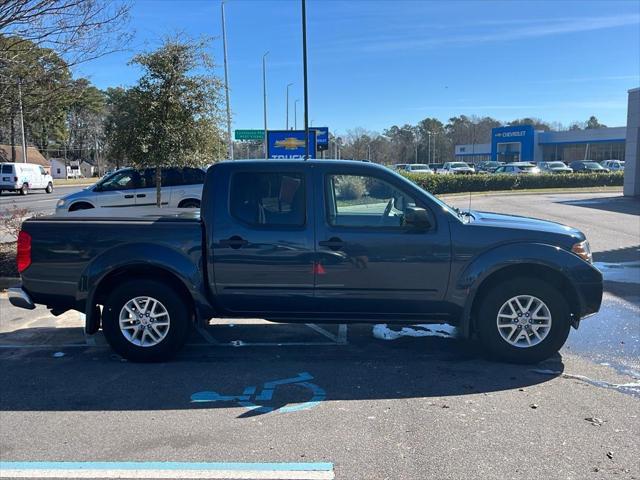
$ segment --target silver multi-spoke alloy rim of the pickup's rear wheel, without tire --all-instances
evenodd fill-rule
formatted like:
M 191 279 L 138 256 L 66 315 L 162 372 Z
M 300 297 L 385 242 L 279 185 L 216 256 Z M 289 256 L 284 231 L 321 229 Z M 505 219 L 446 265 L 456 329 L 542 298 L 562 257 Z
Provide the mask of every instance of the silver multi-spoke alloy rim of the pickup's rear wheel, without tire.
M 155 298 L 135 297 L 120 310 L 119 324 L 129 342 L 139 347 L 153 347 L 167 336 L 171 318 L 166 307 Z

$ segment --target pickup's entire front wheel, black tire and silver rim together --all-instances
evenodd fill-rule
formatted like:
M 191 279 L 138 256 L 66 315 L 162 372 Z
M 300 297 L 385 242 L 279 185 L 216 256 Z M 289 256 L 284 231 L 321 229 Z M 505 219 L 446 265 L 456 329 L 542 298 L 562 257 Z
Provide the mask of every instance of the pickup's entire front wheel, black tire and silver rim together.
M 542 280 L 521 277 L 497 284 L 481 302 L 478 334 L 494 358 L 536 363 L 554 355 L 567 340 L 567 301 Z

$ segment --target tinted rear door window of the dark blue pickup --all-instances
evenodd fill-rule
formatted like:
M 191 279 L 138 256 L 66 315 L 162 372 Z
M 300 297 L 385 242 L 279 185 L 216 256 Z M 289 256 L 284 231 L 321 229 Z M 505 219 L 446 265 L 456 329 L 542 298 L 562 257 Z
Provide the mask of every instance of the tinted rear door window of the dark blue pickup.
M 230 211 L 249 225 L 303 226 L 304 177 L 297 173 L 238 172 L 231 179 Z

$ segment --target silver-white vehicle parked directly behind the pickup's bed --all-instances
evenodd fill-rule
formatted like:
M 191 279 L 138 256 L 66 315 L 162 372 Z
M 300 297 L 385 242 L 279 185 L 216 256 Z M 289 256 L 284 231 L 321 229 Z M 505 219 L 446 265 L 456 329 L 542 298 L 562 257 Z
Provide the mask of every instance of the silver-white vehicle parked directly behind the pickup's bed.
M 163 207 L 200 208 L 205 170 L 202 168 L 163 168 L 161 203 Z M 56 214 L 108 207 L 144 207 L 156 205 L 155 168 L 122 168 L 98 183 L 62 197 Z

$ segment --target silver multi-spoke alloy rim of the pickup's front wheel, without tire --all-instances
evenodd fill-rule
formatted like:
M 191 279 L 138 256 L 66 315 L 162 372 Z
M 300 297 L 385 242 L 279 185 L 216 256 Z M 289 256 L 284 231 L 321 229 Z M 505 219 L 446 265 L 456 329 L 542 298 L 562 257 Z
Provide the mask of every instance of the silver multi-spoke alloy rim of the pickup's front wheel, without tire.
M 509 345 L 528 348 L 538 345 L 551 331 L 551 311 L 537 297 L 518 295 L 498 311 L 498 332 Z

